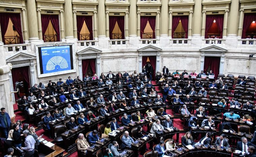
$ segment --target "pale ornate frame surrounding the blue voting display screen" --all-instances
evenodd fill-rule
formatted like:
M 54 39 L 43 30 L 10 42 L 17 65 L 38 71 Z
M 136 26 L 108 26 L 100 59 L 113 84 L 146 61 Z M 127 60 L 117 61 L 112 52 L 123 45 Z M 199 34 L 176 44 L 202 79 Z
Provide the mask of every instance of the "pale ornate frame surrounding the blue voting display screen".
M 53 73 L 45 73 L 41 74 L 41 64 L 40 64 L 40 54 L 39 54 L 39 49 L 42 47 L 57 47 L 57 46 L 71 46 L 72 47 L 72 60 L 70 58 L 71 63 L 73 62 L 73 69 L 71 70 L 65 70 L 65 71 L 58 71 L 58 72 L 53 72 Z M 75 48 L 74 48 L 74 43 L 51 43 L 51 44 L 40 44 L 40 45 L 35 45 L 36 49 L 36 63 L 37 63 L 37 75 L 38 78 L 42 77 L 49 77 L 49 76 L 56 76 L 56 75 L 62 75 L 62 74 L 69 74 L 69 73 L 75 73 L 76 72 L 76 63 L 75 63 Z

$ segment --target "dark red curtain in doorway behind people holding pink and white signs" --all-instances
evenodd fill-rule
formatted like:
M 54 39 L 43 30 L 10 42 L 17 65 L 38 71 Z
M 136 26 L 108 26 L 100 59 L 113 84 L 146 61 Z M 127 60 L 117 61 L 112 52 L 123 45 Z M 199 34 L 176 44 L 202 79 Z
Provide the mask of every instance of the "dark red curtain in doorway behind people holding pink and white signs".
M 217 78 L 220 70 L 220 57 L 205 56 L 203 66 L 203 71 L 205 72 L 205 74 L 209 67 L 210 70 L 213 71 L 215 78 Z

